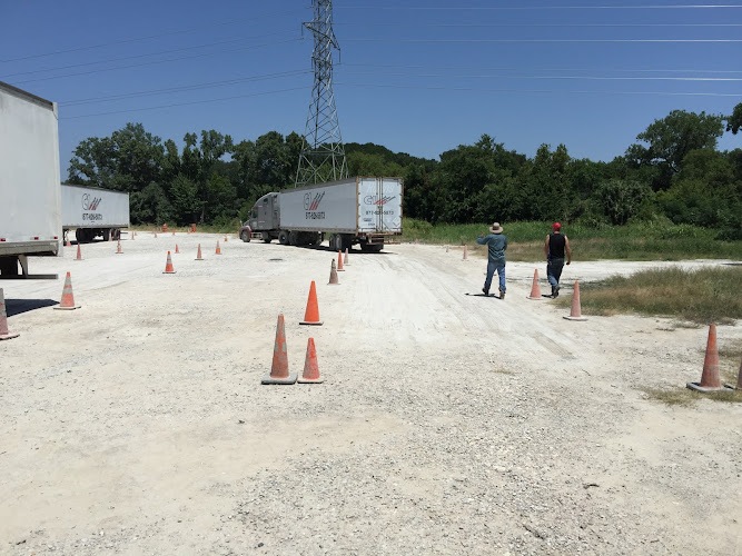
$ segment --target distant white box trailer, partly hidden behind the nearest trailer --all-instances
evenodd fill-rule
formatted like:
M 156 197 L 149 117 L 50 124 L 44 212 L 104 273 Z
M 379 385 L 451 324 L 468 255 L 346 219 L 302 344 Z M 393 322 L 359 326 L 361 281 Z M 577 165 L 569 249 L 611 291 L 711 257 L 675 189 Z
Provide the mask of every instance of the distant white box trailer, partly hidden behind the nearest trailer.
M 75 229 L 80 244 L 97 236 L 119 239 L 121 229 L 129 227 L 129 193 L 62 183 L 62 227 L 65 236 Z

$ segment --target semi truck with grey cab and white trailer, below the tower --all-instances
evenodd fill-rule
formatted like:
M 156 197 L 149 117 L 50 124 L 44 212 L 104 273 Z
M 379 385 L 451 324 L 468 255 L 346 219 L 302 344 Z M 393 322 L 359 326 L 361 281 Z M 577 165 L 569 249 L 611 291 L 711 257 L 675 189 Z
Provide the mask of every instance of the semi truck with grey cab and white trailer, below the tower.
M 253 207 L 241 239 L 300 246 L 329 235 L 333 250 L 357 244 L 377 252 L 402 235 L 403 189 L 402 178 L 356 177 L 270 192 Z

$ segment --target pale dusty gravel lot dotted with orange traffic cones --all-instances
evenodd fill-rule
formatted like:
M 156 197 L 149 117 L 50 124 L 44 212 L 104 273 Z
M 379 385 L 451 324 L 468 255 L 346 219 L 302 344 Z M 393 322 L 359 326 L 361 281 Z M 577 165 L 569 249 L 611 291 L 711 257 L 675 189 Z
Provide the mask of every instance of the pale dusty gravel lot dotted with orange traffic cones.
M 2 554 L 742 554 L 742 404 L 645 393 L 700 379 L 705 328 L 564 320 L 525 262 L 466 296 L 485 260 L 439 246 L 353 250 L 339 286 L 324 248 L 122 248 L 0 282 Z M 577 260 L 562 294 L 660 265 Z M 53 310 L 68 270 L 82 307 Z M 279 312 L 324 384 L 260 385 Z

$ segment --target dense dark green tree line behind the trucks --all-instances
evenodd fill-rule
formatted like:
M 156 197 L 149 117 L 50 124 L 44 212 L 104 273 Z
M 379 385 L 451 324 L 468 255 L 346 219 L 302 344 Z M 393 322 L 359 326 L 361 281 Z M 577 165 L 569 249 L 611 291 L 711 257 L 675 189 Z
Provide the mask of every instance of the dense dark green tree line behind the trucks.
M 742 149 L 716 148 L 724 131 L 736 135 L 741 126 L 742 103 L 731 116 L 674 110 L 610 162 L 573 158 L 564 145 L 542 145 L 530 158 L 488 135 L 439 160 L 374 143 L 345 149 L 352 176 L 404 178 L 404 214 L 431 224 L 666 218 L 742 239 Z M 68 182 L 128 191 L 133 224 L 228 226 L 246 219 L 260 196 L 293 186 L 301 141 L 270 131 L 235 143 L 204 130 L 187 133 L 178 149 L 128 123 L 81 141 Z

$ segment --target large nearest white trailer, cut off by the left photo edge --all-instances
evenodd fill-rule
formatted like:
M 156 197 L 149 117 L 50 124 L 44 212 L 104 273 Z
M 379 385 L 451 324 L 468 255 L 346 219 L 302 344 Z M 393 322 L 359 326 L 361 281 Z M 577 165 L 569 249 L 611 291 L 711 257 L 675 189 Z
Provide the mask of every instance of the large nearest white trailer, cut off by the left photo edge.
M 0 81 L 0 278 L 30 275 L 28 258 L 61 251 L 57 103 Z

